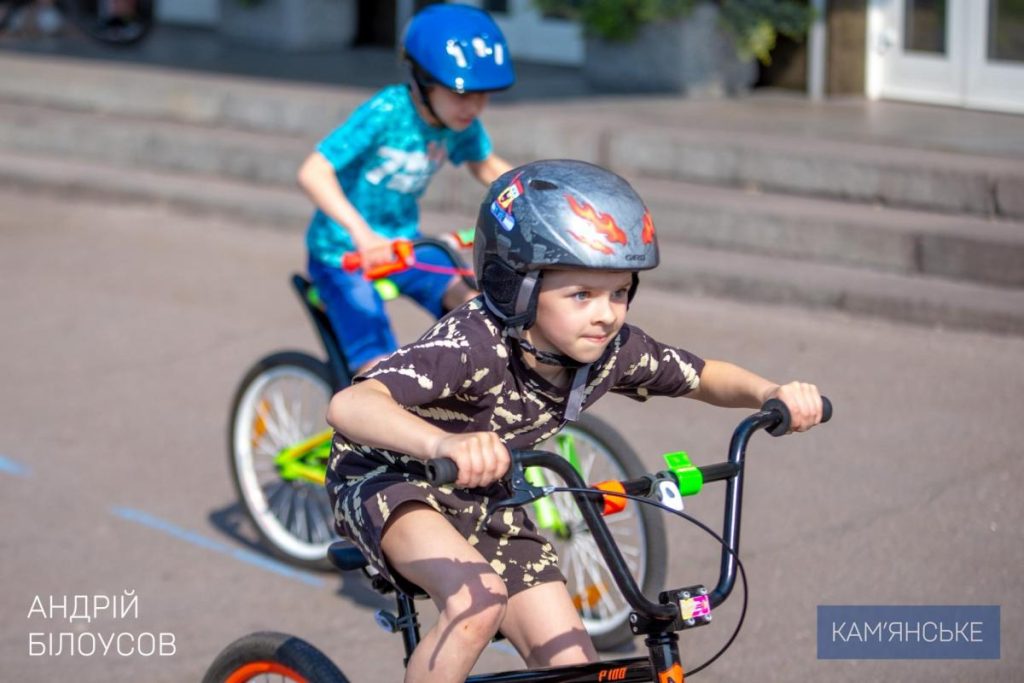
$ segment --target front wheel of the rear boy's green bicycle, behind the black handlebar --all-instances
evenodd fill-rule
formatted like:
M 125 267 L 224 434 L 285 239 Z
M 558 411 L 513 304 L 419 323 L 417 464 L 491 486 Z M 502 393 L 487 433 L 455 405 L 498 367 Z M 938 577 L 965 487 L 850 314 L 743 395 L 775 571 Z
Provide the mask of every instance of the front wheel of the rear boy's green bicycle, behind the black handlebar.
M 630 479 L 647 472 L 626 439 L 593 415 L 582 415 L 537 447 L 561 454 L 591 483 Z M 551 472 L 545 471 L 544 476 L 552 484 L 564 484 Z M 609 650 L 630 642 L 632 607 L 615 586 L 580 509 L 568 494 L 554 494 L 550 500 L 554 510 L 540 519 L 544 515 L 537 514 L 540 511 L 535 508 L 535 521 L 558 551 L 566 588 L 594 646 Z M 660 590 L 668 555 L 658 511 L 631 502 L 622 512 L 605 517 L 605 522 L 637 585 L 645 594 Z

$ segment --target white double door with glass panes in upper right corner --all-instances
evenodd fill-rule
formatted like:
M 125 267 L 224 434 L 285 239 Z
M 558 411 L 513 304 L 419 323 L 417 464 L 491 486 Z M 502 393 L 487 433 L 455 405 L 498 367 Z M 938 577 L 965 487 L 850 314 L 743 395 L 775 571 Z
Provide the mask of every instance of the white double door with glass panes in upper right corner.
M 867 94 L 1024 112 L 1024 3 L 871 0 Z

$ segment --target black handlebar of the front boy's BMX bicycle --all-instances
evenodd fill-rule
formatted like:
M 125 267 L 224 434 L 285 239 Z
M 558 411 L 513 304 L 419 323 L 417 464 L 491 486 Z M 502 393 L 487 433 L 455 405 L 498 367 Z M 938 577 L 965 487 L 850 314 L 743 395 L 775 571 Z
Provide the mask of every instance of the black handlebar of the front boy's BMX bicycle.
M 828 422 L 833 416 L 833 404 L 825 396 L 821 397 L 822 418 L 821 422 Z M 729 460 L 724 463 L 716 463 L 699 467 L 705 482 L 727 481 L 725 498 L 725 520 L 723 523 L 722 539 L 722 561 L 719 570 L 718 584 L 711 593 L 711 603 L 713 607 L 718 606 L 729 597 L 736 579 L 736 555 L 739 553 L 739 523 L 742 502 L 742 477 L 743 458 L 746 453 L 746 444 L 751 436 L 759 429 L 765 429 L 773 435 L 780 435 L 788 431 L 791 424 L 790 411 L 785 403 L 778 399 L 770 399 L 761 407 L 761 410 L 749 416 L 736 426 L 729 443 Z M 776 433 L 777 432 L 777 433 Z M 544 467 L 555 472 L 571 488 L 587 488 L 580 473 L 577 472 L 568 461 L 547 451 L 518 451 L 510 452 L 513 466 L 509 470 L 513 479 L 513 484 L 521 478 L 522 467 Z M 519 470 L 518 473 L 516 470 Z M 431 460 L 426 463 L 427 479 L 435 484 L 453 483 L 459 475 L 459 469 L 455 461 L 449 458 Z M 523 479 L 524 480 L 524 479 Z M 649 487 L 649 480 L 644 478 L 622 482 L 625 489 L 630 493 L 638 490 L 646 482 Z M 636 611 L 654 621 L 672 621 L 678 615 L 678 607 L 675 603 L 658 604 L 648 600 L 636 580 L 630 573 L 611 538 L 604 518 L 601 515 L 601 508 L 598 501 L 602 500 L 603 492 L 591 488 L 593 493 L 572 492 L 572 498 L 580 507 L 584 521 L 594 536 L 597 548 L 608 565 L 615 585 Z

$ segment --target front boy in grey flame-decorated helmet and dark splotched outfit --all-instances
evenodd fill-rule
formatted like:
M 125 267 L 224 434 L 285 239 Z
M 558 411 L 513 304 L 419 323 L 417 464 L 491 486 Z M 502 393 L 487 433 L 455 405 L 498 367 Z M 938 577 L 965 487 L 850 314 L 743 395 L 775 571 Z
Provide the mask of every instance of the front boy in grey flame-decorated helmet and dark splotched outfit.
M 771 397 L 805 431 L 821 420 L 813 385 L 774 384 L 626 325 L 638 271 L 658 262 L 654 225 L 623 178 L 542 161 L 496 180 L 476 223 L 482 296 L 397 350 L 328 411 L 327 486 L 338 531 L 402 590 L 439 610 L 407 681 L 462 681 L 500 630 L 530 667 L 596 659 L 557 557 L 500 481 L 508 449 L 558 432 L 608 391 L 688 395 L 758 408 Z M 425 480 L 451 458 L 455 485 Z

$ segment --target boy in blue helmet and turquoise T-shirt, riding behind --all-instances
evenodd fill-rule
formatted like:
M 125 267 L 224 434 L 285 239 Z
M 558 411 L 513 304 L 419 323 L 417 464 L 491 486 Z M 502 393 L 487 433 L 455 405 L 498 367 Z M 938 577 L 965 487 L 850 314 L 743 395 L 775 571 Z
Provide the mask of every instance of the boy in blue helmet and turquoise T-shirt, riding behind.
M 477 119 L 488 93 L 515 81 L 494 20 L 474 7 L 429 6 L 410 23 L 402 51 L 412 85 L 388 86 L 361 104 L 321 141 L 298 174 L 316 205 L 306 232 L 309 275 L 349 366 L 357 370 L 397 344 L 381 297 L 360 273 L 342 269 L 343 255 L 358 252 L 370 270 L 391 260 L 391 240 L 417 237 L 417 202 L 445 159 L 465 163 L 483 184 L 509 168 L 492 152 Z M 431 258 L 422 256 L 428 263 Z M 392 280 L 437 317 L 476 295 L 451 274 L 406 272 Z

